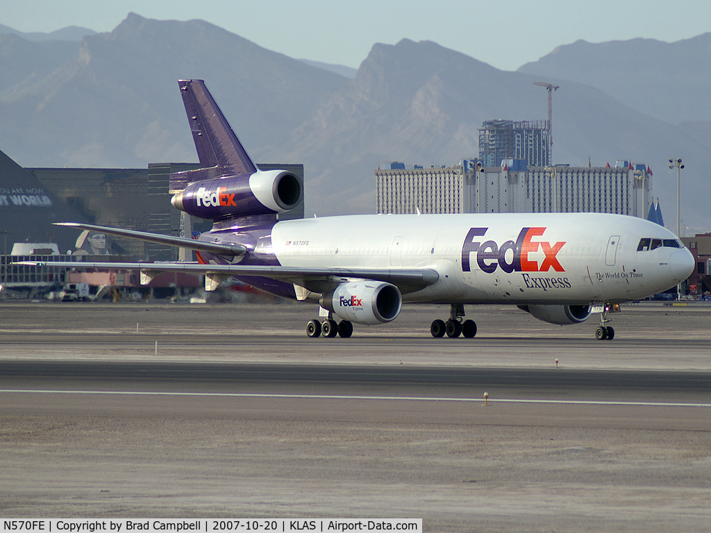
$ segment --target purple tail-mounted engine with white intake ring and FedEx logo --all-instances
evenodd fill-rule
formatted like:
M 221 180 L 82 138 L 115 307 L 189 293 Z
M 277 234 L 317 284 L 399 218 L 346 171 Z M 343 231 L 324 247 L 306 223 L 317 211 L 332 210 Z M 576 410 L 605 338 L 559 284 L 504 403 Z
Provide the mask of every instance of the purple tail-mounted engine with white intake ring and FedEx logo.
M 206 220 L 271 215 L 299 204 L 303 186 L 287 171 L 257 171 L 190 183 L 171 199 L 176 209 Z

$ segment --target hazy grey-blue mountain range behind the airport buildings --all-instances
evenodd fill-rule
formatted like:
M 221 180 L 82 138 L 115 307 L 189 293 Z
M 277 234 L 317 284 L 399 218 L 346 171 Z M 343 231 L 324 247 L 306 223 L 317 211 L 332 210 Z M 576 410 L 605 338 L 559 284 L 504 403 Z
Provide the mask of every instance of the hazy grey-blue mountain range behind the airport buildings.
M 533 85 L 544 81 L 560 85 L 555 163 L 647 163 L 669 222 L 668 158 L 682 157 L 683 225 L 711 230 L 711 33 L 577 41 L 516 72 L 405 39 L 373 45 L 353 72 L 199 20 L 129 14 L 110 33 L 85 32 L 31 41 L 0 27 L 0 150 L 22 166 L 196 161 L 176 80 L 201 78 L 253 158 L 304 163 L 306 212 L 373 212 L 375 168 L 476 157 L 484 120 L 547 117 L 545 90 Z

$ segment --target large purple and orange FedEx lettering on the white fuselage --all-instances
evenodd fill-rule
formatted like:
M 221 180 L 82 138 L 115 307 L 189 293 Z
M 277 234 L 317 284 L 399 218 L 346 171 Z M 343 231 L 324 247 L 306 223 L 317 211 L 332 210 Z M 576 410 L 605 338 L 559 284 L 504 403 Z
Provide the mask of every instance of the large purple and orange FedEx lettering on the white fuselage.
M 550 269 L 556 272 L 565 272 L 557 259 L 557 254 L 565 242 L 550 244 L 547 241 L 534 240 L 543 235 L 545 227 L 523 227 L 516 242 L 506 241 L 499 246 L 495 241 L 481 242 L 476 237 L 483 237 L 488 227 L 472 227 L 466 234 L 464 245 L 461 247 L 461 269 L 471 272 L 471 254 L 476 254 L 476 264 L 487 274 L 492 274 L 499 266 L 510 274 L 516 272 L 547 272 Z M 530 259 L 528 254 L 534 254 L 542 249 L 545 258 L 540 265 L 538 261 Z M 508 253 L 509 250 L 511 253 Z M 510 262 L 508 259 L 511 259 Z

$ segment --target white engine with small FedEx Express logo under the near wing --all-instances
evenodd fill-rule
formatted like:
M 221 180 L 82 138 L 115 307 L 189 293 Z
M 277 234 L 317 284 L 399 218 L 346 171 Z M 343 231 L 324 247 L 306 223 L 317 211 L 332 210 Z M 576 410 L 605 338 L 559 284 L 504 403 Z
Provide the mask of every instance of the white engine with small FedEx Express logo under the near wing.
M 321 307 L 357 324 L 383 324 L 400 314 L 402 295 L 383 281 L 352 281 L 324 294 Z

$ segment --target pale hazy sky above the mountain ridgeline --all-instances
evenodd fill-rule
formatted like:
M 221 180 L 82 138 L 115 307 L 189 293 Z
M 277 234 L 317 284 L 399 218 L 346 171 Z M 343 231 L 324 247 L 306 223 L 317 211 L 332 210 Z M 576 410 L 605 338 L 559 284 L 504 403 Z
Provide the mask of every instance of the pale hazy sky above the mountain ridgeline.
M 680 41 L 711 31 L 709 0 L 1 0 L 20 31 L 111 31 L 129 11 L 202 18 L 289 55 L 357 68 L 374 43 L 434 41 L 515 70 L 578 39 Z

